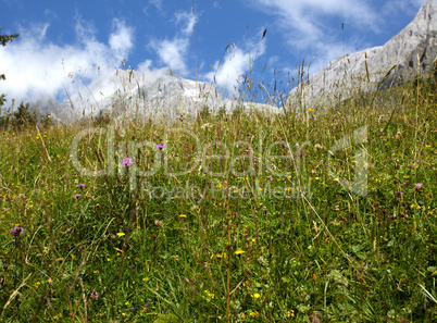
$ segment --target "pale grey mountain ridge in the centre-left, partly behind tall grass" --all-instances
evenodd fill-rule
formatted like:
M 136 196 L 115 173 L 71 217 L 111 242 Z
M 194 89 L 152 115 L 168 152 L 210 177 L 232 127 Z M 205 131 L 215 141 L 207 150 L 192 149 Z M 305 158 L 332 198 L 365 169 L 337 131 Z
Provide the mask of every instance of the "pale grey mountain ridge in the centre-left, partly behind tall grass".
M 150 72 L 150 71 L 149 71 Z M 153 73 L 116 70 L 107 79 L 102 96 L 99 83 L 87 86 L 88 95 L 68 96 L 63 103 L 48 95 L 29 101 L 30 109 L 38 115 L 50 114 L 53 121 L 71 122 L 85 115 L 101 113 L 110 117 L 147 119 L 173 122 L 180 116 L 192 116 L 208 107 L 210 111 L 224 109 L 230 112 L 237 108 L 263 110 L 277 113 L 279 109 L 264 103 L 244 102 L 223 98 L 214 86 L 207 82 L 183 78 L 171 69 L 160 69 Z M 112 85 L 109 86 L 108 84 Z M 100 96 L 100 99 L 96 97 Z

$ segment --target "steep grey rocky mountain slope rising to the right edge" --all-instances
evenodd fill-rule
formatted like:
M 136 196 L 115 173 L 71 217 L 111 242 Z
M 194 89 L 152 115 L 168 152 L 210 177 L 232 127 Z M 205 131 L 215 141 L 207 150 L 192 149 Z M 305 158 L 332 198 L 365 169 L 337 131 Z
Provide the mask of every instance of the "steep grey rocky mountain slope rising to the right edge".
M 411 80 L 429 70 L 437 55 L 437 0 L 427 0 L 415 18 L 384 46 L 332 61 L 289 94 L 287 108 L 321 110 L 357 92 Z

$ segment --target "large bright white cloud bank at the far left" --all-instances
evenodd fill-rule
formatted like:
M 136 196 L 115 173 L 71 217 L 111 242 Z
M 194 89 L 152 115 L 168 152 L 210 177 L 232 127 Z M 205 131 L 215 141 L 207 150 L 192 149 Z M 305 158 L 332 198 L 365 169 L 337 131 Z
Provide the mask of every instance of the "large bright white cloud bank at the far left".
M 71 95 L 80 92 L 96 100 L 102 97 L 100 91 L 110 97 L 113 86 L 99 79 L 110 78 L 114 67 L 120 67 L 120 54 L 132 49 L 133 29 L 115 20 L 114 32 L 104 44 L 96 39 L 92 25 L 78 21 L 78 42 L 60 46 L 47 39 L 48 28 L 49 24 L 21 28 L 20 37 L 0 51 L 0 70 L 7 75 L 1 91 L 8 94 L 7 105 L 11 99 L 27 101 L 41 94 L 65 100 L 64 87 Z

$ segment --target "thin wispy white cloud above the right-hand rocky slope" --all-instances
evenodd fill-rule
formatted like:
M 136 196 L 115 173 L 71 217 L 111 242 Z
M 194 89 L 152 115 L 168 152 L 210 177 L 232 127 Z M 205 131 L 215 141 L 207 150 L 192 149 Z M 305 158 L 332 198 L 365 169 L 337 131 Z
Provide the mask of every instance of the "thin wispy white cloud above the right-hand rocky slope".
M 284 35 L 290 51 L 309 51 L 317 57 L 319 63 L 342 55 L 339 28 L 332 27 L 332 20 L 338 18 L 357 28 L 378 33 L 380 14 L 364 0 L 242 0 L 248 7 L 273 15 L 276 27 Z M 330 26 L 330 27 L 329 27 Z M 353 48 L 353 45 L 348 50 Z

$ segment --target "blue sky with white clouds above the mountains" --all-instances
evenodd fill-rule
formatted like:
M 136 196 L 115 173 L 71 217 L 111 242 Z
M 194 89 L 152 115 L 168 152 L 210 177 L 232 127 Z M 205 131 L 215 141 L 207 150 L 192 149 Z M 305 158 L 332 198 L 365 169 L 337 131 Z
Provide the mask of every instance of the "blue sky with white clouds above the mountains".
M 40 94 L 62 101 L 65 87 L 86 91 L 122 69 L 124 57 L 125 67 L 150 78 L 171 67 L 189 79 L 215 77 L 230 96 L 251 71 L 254 84 L 262 79 L 273 94 L 276 79 L 284 94 L 297 64 L 305 61 L 313 73 L 345 53 L 382 46 L 424 2 L 197 0 L 193 13 L 192 0 L 0 0 L 2 33 L 21 34 L 0 48 L 7 75 L 0 92 L 9 102 Z M 101 90 L 110 96 L 113 88 Z M 257 100 L 265 98 L 258 91 Z

